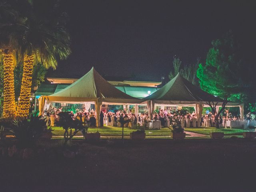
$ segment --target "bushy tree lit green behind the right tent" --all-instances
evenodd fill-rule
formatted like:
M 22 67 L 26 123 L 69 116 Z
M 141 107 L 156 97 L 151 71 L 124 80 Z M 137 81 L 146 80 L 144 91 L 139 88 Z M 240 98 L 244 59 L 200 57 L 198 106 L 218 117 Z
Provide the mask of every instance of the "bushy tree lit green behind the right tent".
M 241 78 L 244 69 L 239 46 L 229 31 L 212 41 L 205 64 L 199 64 L 197 77 L 202 90 L 220 98 L 240 100 L 244 94 Z

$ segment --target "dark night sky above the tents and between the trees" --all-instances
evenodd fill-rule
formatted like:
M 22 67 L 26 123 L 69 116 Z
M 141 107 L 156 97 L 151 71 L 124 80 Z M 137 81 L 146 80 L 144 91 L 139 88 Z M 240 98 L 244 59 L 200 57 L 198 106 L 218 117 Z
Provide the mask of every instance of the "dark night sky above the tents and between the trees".
M 47 76 L 80 77 L 94 66 L 105 76 L 161 81 L 174 55 L 182 64 L 197 57 L 204 62 L 211 41 L 230 29 L 244 58 L 254 62 L 255 4 L 188 2 L 62 0 L 70 16 L 72 54 Z

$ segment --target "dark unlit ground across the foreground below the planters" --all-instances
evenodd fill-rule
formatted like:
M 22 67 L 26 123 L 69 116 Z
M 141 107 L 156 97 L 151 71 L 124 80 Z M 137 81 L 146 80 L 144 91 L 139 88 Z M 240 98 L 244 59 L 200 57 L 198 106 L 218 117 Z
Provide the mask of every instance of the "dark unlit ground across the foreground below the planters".
M 73 159 L 0 158 L 0 191 L 256 191 L 256 140 L 74 143 Z

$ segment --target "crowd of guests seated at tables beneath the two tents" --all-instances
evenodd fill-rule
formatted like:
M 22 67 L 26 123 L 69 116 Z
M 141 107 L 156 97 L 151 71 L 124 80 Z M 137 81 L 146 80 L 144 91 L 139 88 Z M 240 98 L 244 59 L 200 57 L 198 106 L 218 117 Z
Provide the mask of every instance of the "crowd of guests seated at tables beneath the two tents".
M 42 118 L 45 119 L 47 126 L 54 126 L 59 121 L 58 114 L 62 112 L 62 108 L 49 108 L 44 110 L 44 114 Z M 76 109 L 75 112 L 70 111 L 70 113 L 74 114 L 73 119 L 78 119 L 82 121 L 83 124 L 88 123 L 91 127 L 96 126 L 96 112 L 92 109 L 87 111 L 85 108 L 83 110 Z M 202 116 L 201 122 L 198 122 L 197 116 L 195 112 L 187 113 L 186 115 L 180 116 L 181 126 L 184 128 L 189 127 L 215 127 L 216 126 L 216 114 L 212 114 L 211 112 L 206 111 L 206 115 Z M 232 116 L 231 113 L 228 113 L 228 110 L 225 111 L 226 116 L 219 116 L 218 121 L 219 124 L 225 127 L 225 123 L 227 120 L 239 121 L 240 118 L 236 116 Z M 153 114 L 152 120 L 161 122 L 161 127 L 169 127 L 170 126 L 170 118 L 175 115 L 175 112 L 166 109 L 156 110 Z M 148 126 L 149 115 L 148 113 L 141 113 L 136 116 L 132 110 L 118 110 L 116 112 L 100 112 L 100 126 L 104 124 L 107 126 L 118 126 L 121 127 L 121 122 L 127 121 L 124 124 L 124 127 L 134 128 L 136 126 Z

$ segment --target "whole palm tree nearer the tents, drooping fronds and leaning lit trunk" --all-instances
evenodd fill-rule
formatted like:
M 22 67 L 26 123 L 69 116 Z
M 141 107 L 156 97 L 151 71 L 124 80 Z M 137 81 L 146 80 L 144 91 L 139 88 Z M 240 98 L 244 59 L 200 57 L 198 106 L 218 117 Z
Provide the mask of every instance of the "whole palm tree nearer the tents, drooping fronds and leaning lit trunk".
M 56 1 L 57 2 L 57 1 Z M 53 0 L 32 1 L 26 16 L 24 38 L 18 52 L 24 56 L 23 76 L 17 115 L 28 116 L 34 63 L 56 68 L 57 60 L 70 53 L 70 37 L 65 28 L 66 14 Z

